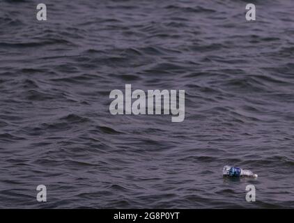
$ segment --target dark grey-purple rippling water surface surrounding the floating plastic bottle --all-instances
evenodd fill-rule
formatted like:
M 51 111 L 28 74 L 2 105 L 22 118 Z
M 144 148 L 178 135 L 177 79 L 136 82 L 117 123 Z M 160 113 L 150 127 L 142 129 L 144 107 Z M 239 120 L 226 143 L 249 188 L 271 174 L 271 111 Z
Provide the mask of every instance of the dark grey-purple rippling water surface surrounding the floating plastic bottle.
M 293 0 L 37 3 L 0 0 L 1 208 L 294 208 Z M 185 121 L 112 116 L 125 84 Z

